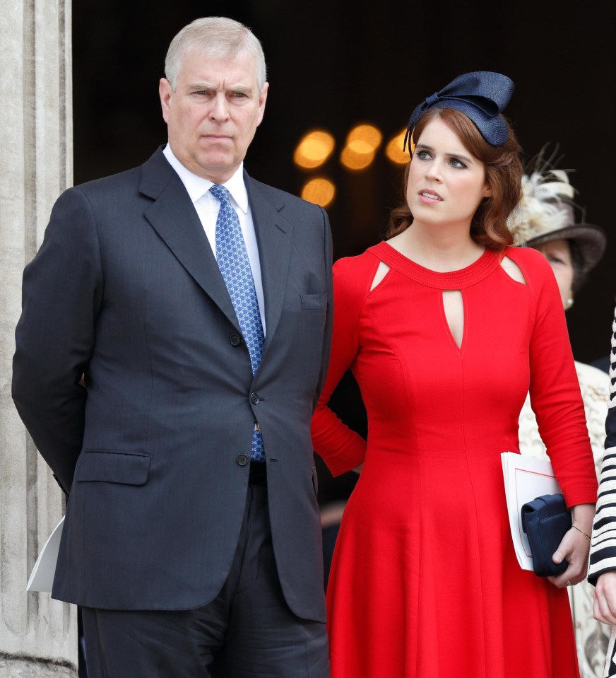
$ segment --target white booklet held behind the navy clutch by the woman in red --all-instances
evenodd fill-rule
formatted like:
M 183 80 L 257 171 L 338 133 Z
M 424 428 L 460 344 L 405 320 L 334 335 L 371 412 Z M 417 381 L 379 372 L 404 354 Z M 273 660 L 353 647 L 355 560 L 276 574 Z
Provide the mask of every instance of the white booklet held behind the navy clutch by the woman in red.
M 533 558 L 528 539 L 522 530 L 521 508 L 527 501 L 533 501 L 543 494 L 560 492 L 560 486 L 550 460 L 526 457 L 516 452 L 502 452 L 501 460 L 514 549 L 520 567 L 523 570 L 532 570 Z

